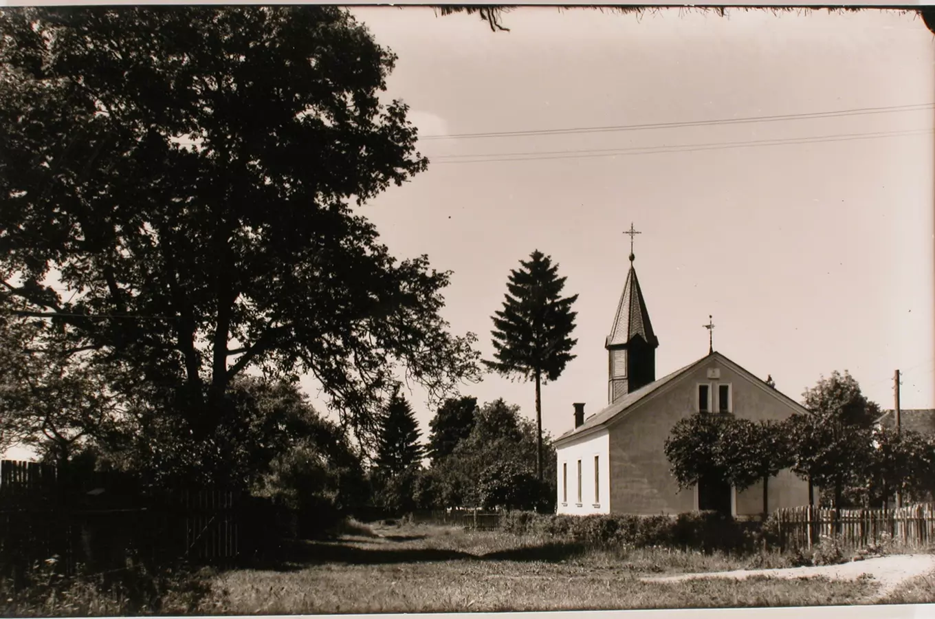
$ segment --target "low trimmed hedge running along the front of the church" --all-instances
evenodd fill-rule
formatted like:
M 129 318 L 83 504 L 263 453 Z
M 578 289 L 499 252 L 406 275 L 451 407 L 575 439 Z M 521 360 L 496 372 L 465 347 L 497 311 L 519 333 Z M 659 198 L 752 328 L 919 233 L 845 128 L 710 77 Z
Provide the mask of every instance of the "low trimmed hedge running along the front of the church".
M 677 516 L 510 511 L 500 521 L 500 528 L 515 535 L 545 535 L 595 548 L 663 546 L 742 553 L 754 551 L 761 543 L 759 523 L 737 521 L 716 511 L 689 511 Z

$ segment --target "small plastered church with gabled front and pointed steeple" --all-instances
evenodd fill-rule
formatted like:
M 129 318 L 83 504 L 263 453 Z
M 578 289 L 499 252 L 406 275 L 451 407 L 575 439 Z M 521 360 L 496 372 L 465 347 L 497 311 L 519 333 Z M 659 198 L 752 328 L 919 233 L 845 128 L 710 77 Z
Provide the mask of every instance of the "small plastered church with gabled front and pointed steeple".
M 639 234 L 630 226 L 627 233 Z M 611 334 L 608 406 L 585 418 L 574 405 L 574 427 L 555 440 L 558 513 L 675 514 L 717 510 L 731 515 L 762 511 L 763 482 L 739 492 L 726 483 L 680 490 L 664 444 L 672 426 L 695 412 L 758 420 L 786 419 L 804 409 L 749 371 L 715 352 L 656 379 L 659 346 L 640 281 L 630 268 Z M 713 324 L 706 325 L 709 332 Z M 783 470 L 768 484 L 769 510 L 807 505 L 808 483 Z

